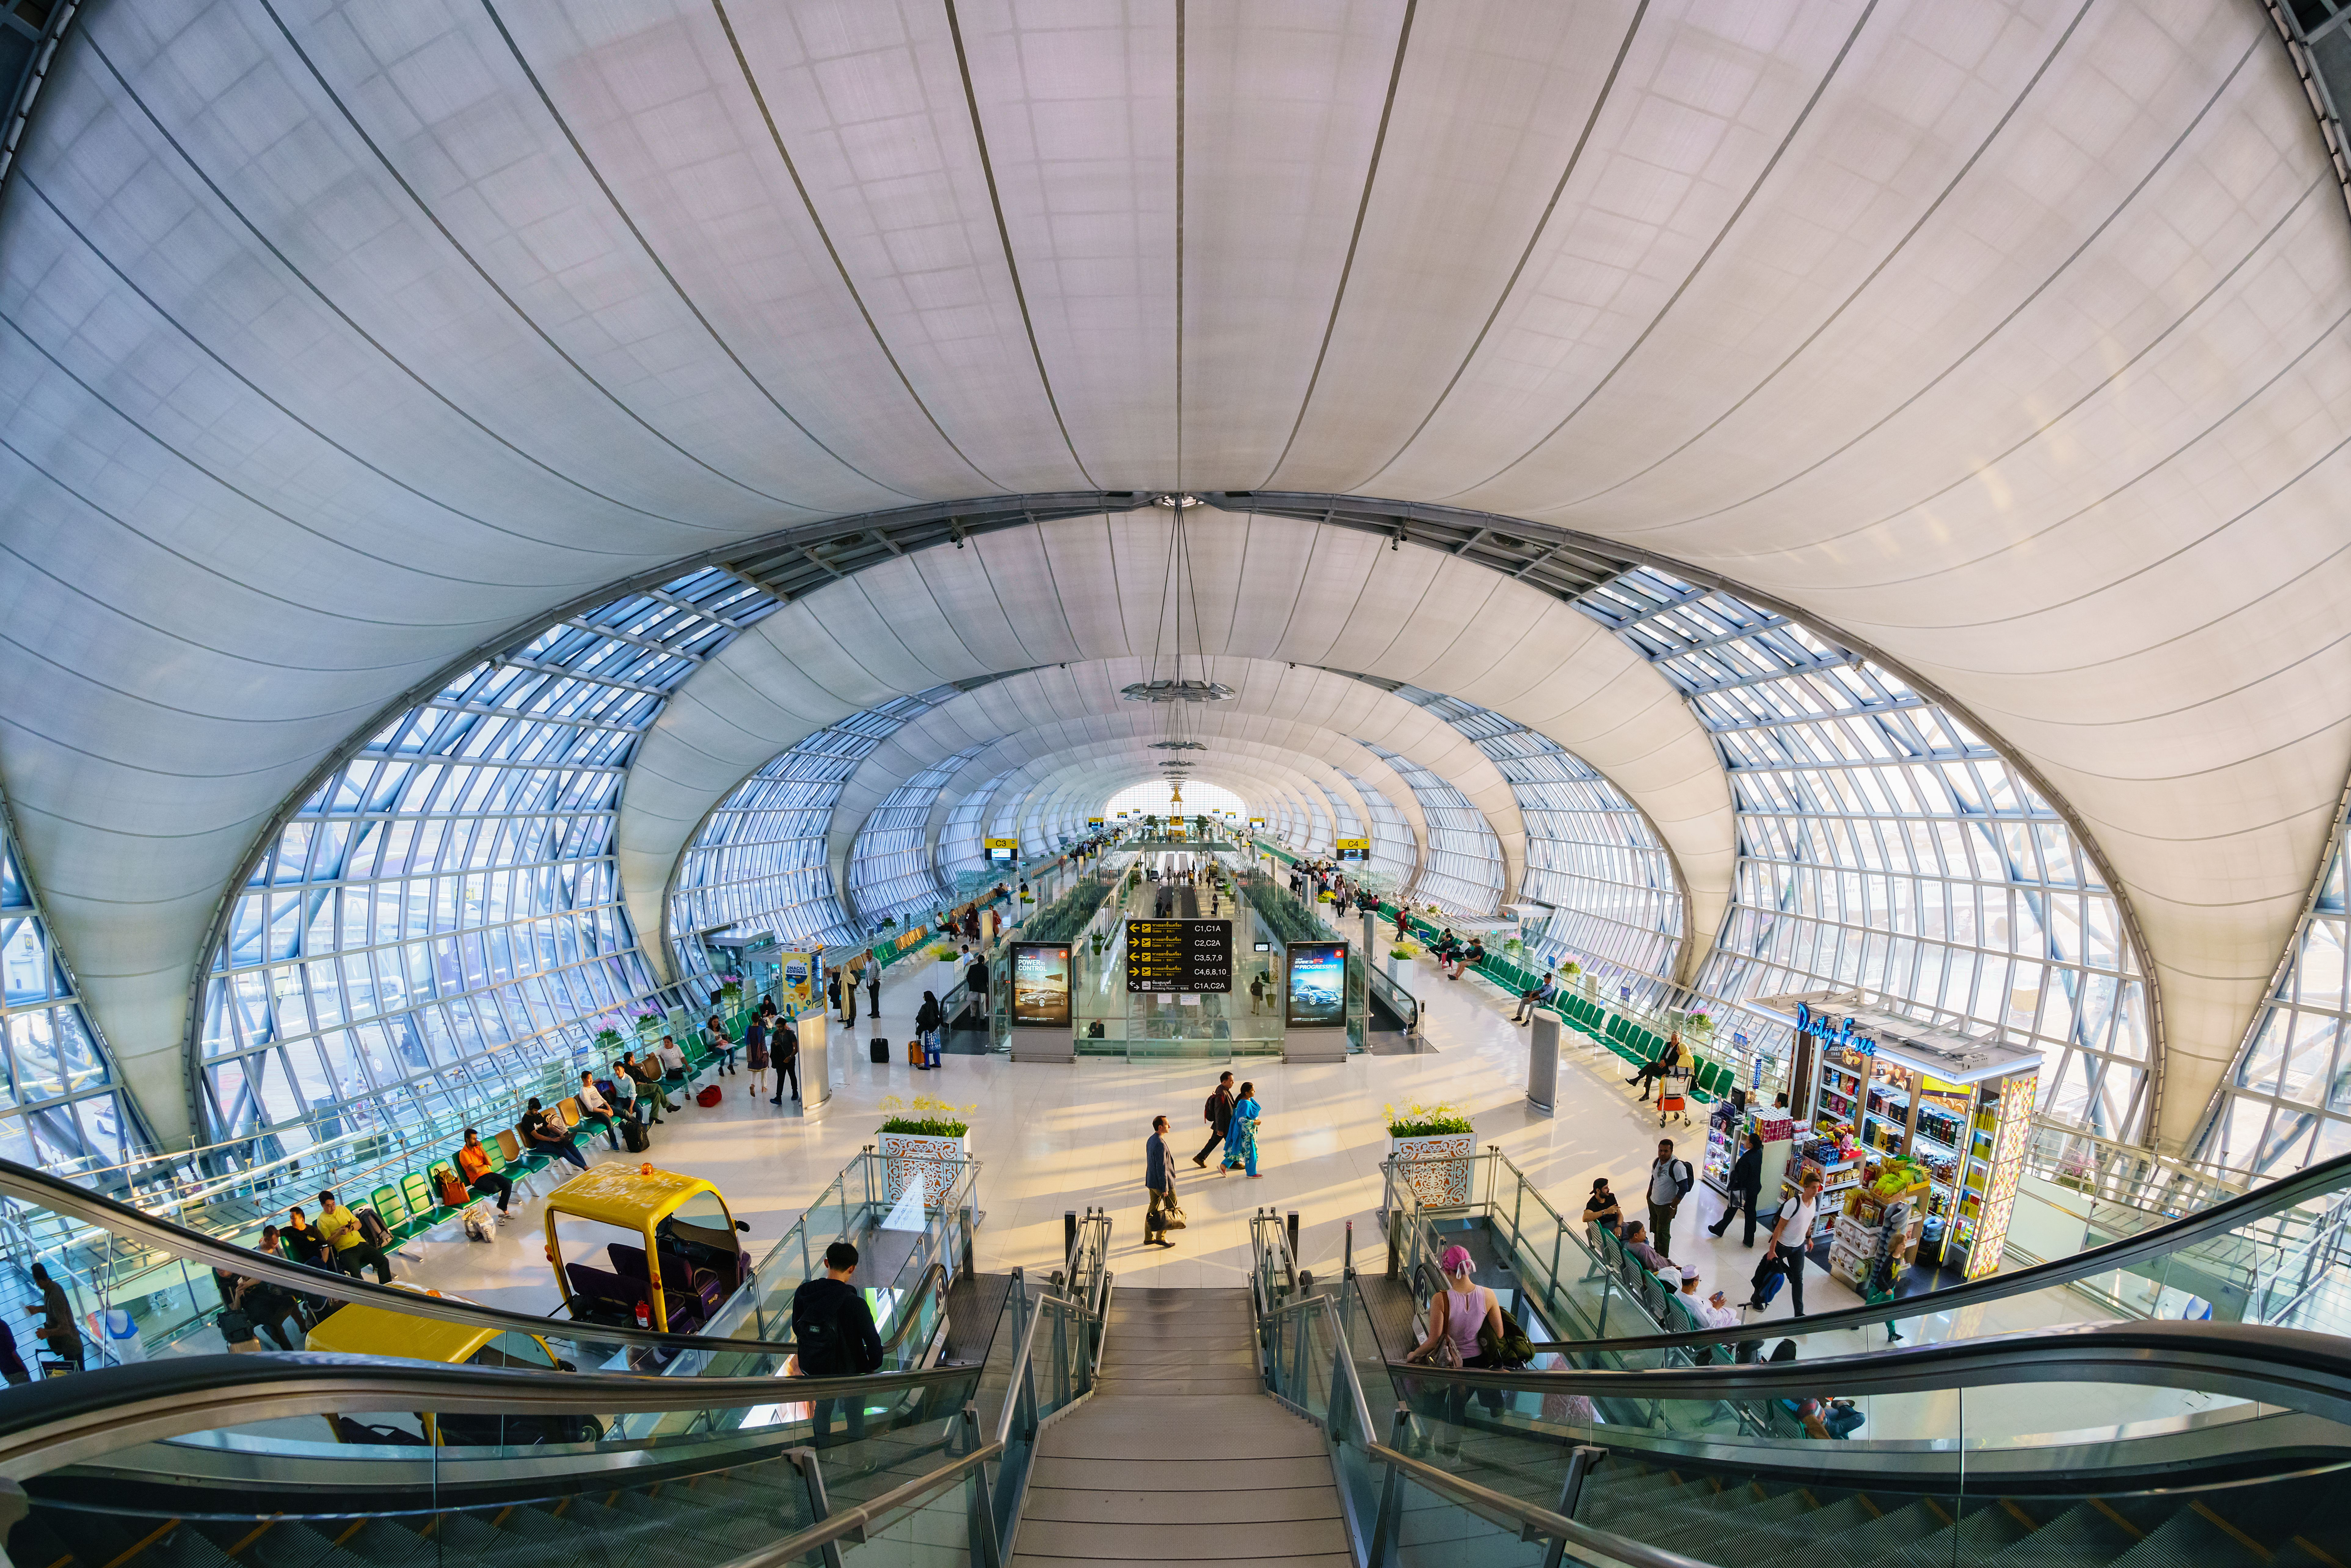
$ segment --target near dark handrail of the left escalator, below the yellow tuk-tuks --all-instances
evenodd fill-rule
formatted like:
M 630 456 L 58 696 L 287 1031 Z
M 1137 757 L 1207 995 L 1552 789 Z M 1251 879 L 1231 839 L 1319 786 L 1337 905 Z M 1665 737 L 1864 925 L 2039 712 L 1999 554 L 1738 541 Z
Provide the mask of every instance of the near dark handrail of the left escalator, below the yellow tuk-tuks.
M 943 1366 L 865 1378 L 637 1378 L 303 1349 L 172 1356 L 47 1378 L 0 1394 L 0 1476 L 24 1481 L 129 1443 L 287 1415 L 383 1408 L 475 1415 L 715 1410 L 776 1403 L 781 1394 L 799 1403 L 978 1375 L 978 1366 Z

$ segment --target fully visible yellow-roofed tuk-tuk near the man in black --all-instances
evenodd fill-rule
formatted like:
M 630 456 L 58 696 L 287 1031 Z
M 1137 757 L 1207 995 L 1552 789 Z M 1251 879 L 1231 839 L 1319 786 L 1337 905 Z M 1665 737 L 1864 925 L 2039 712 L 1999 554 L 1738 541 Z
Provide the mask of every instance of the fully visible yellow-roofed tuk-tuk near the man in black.
M 750 1279 L 719 1190 L 607 1161 L 548 1194 L 548 1262 L 578 1324 L 701 1333 Z

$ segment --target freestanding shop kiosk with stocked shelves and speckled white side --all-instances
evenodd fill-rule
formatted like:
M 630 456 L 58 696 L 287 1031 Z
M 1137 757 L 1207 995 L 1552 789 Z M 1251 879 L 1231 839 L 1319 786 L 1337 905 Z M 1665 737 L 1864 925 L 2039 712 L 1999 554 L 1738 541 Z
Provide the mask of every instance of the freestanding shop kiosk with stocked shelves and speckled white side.
M 1822 1135 L 1850 1126 L 1862 1145 L 1846 1187 L 1869 1154 L 1916 1159 L 1928 1171 L 1918 1262 L 1965 1279 L 1998 1269 L 2031 1140 L 2041 1051 L 1916 1023 L 1864 992 L 1799 992 L 1761 1006 L 1796 1020 L 1789 1081 L 1799 1128 Z M 1829 1215 L 1822 1220 L 1829 1229 Z

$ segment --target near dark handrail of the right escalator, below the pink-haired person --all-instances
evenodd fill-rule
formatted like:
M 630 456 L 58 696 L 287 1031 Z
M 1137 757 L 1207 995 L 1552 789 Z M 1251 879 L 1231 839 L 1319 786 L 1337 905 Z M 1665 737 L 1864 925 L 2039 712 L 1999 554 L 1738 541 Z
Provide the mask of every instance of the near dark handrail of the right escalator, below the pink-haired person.
M 1754 1335 L 1719 1333 L 1716 1345 Z M 1817 1361 L 1634 1371 L 1486 1371 L 1387 1363 L 1415 1382 L 1606 1399 L 1775 1399 L 1918 1394 L 2015 1382 L 2135 1382 L 2278 1403 L 2351 1427 L 2351 1349 L 2330 1333 L 2248 1324 L 2069 1324 L 1904 1345 Z

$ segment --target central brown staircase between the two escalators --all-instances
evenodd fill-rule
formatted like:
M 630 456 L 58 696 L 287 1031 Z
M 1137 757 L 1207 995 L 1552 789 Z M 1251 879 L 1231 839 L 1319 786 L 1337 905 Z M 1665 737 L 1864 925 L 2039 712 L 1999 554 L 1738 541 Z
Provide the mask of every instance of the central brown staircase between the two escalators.
M 1258 1378 L 1248 1291 L 1110 1300 L 1093 1399 L 1046 1427 L 1013 1568 L 1354 1568 L 1321 1432 Z

